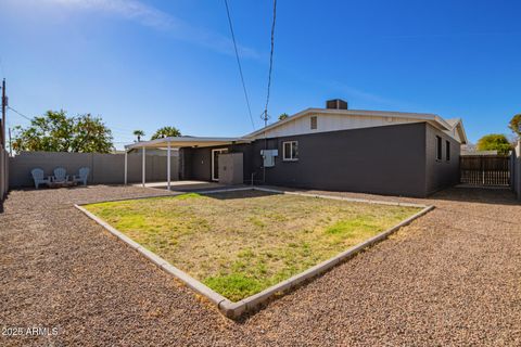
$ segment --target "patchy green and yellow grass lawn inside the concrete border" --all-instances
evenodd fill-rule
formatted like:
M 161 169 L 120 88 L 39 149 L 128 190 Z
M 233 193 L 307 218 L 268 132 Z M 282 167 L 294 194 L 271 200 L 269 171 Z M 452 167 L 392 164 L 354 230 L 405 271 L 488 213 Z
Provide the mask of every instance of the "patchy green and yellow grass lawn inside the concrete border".
M 85 207 L 233 301 L 419 211 L 259 191 L 190 193 Z

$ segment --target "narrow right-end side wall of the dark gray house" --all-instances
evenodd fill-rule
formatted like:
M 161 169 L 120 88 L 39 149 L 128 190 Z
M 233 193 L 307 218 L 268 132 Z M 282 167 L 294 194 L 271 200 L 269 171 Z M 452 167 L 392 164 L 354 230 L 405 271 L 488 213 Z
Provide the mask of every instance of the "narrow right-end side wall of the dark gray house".
M 436 159 L 436 136 L 442 138 L 442 159 Z M 446 157 L 446 141 L 450 143 L 450 159 Z M 446 133 L 425 124 L 425 182 L 427 195 L 459 183 L 459 154 L 461 145 Z

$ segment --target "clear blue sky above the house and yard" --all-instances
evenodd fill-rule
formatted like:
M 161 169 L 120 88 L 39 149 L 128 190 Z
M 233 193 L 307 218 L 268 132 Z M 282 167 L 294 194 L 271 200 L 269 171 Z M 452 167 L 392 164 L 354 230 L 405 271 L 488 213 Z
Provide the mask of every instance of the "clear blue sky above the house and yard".
M 229 0 L 256 128 L 272 2 Z M 472 142 L 521 112 L 520 1 L 279 0 L 269 113 L 351 108 L 461 117 Z M 10 105 L 101 115 L 131 131 L 252 131 L 224 0 L 2 0 Z M 9 113 L 9 125 L 26 125 Z

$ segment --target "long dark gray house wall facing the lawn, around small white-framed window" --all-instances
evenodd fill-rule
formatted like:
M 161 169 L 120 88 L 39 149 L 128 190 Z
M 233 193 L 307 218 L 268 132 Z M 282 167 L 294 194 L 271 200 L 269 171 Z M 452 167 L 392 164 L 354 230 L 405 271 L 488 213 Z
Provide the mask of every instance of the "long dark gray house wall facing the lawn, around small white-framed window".
M 282 143 L 298 141 L 298 160 L 282 159 Z M 263 145 L 257 145 L 259 153 Z M 268 184 L 423 196 L 424 124 L 279 138 Z

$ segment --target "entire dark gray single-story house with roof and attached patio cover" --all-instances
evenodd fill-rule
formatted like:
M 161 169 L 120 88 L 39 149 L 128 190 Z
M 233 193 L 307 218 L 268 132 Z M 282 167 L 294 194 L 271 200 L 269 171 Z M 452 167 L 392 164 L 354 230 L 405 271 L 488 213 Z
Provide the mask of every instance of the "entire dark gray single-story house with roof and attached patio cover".
M 244 183 L 427 196 L 459 182 L 466 143 L 461 119 L 347 110 L 333 100 L 240 138 L 165 138 L 127 150 L 179 149 L 185 180 L 218 181 L 228 153 L 241 157 L 232 169 Z

